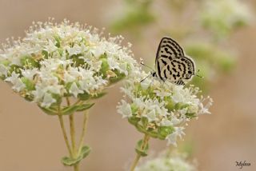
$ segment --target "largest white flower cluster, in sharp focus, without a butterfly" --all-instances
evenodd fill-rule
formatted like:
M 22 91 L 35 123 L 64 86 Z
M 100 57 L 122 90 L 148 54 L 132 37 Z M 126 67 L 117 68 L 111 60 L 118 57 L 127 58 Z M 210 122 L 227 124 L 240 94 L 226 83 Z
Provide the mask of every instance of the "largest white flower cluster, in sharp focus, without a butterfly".
M 22 97 L 47 108 L 62 97 L 101 96 L 108 85 L 138 67 L 130 46 L 121 46 L 121 41 L 66 20 L 34 23 L 25 38 L 3 45 L 0 78 Z

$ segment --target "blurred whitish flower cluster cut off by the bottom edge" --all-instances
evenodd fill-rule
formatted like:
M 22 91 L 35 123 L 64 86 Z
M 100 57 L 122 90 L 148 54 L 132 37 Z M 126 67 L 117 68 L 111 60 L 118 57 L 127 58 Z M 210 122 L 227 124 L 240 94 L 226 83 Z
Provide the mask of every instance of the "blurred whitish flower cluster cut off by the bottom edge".
M 138 166 L 135 171 L 196 171 L 196 162 L 187 161 L 186 153 L 170 153 L 170 155 L 159 155 Z

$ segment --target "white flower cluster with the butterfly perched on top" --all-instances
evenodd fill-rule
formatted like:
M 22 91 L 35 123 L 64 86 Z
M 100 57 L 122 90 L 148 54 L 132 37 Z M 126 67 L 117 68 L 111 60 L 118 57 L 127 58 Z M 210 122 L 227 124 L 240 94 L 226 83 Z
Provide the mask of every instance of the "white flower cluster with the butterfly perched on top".
M 138 131 L 159 139 L 167 139 L 176 145 L 177 137 L 182 137 L 187 121 L 199 114 L 210 113 L 210 97 L 198 97 L 198 88 L 190 85 L 174 85 L 155 78 L 130 78 L 122 87 L 124 99 L 118 104 L 118 113 L 127 117 Z M 203 105 L 205 104 L 205 105 Z

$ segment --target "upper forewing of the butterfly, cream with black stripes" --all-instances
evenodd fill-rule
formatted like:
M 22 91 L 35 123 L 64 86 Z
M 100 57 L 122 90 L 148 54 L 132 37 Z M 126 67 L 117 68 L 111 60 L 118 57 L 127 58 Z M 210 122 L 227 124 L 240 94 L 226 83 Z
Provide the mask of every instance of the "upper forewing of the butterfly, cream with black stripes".
M 170 63 L 170 60 L 178 57 L 184 57 L 184 50 L 172 38 L 162 38 L 158 46 L 158 52 L 155 58 L 156 74 L 158 78 L 164 79 L 161 76 L 161 70 Z

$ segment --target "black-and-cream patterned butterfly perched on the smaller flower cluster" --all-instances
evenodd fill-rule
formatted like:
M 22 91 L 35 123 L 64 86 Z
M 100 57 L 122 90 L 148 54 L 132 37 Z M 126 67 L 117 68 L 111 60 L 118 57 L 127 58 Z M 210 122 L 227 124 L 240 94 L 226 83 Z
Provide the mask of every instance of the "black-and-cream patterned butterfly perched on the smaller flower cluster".
M 153 77 L 176 84 L 185 85 L 194 76 L 194 61 L 172 38 L 164 37 L 158 46 Z

